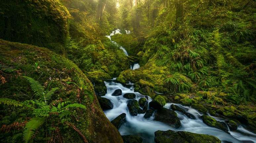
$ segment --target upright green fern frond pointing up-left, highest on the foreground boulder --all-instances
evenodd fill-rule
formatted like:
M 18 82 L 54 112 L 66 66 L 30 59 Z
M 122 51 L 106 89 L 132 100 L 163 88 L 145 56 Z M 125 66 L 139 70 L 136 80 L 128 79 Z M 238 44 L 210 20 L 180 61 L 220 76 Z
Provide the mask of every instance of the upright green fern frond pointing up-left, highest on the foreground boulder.
M 32 91 L 36 96 L 42 96 L 44 92 L 44 87 L 36 80 L 30 77 L 23 76 L 29 83 Z

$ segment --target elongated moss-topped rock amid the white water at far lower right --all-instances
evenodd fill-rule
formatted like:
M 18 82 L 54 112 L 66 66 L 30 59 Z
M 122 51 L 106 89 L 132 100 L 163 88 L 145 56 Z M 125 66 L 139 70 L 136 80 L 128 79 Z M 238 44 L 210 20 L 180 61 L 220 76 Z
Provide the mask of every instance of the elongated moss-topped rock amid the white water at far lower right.
M 208 126 L 215 127 L 220 130 L 228 132 L 228 127 L 226 126 L 226 124 L 224 122 L 219 122 L 219 121 L 215 120 L 214 118 L 212 118 L 210 116 L 206 116 L 206 115 L 202 115 L 201 119 Z

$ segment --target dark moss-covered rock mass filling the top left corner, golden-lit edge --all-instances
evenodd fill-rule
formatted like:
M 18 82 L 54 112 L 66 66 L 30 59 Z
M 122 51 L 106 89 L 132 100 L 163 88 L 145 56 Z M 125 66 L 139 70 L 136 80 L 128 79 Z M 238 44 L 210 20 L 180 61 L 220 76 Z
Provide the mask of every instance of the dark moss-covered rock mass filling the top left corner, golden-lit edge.
M 3 19 L 0 21 L 1 39 L 43 46 L 65 54 L 70 14 L 59 0 L 5 1 L 0 10 L 3 12 L 0 14 Z

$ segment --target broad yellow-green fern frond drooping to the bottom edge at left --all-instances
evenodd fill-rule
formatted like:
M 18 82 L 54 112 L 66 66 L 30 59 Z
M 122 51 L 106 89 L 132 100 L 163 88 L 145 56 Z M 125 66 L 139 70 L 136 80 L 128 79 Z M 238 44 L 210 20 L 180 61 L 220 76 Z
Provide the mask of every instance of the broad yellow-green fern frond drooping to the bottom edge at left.
M 29 140 L 32 138 L 32 136 L 35 134 L 35 131 L 44 123 L 45 118 L 32 118 L 30 119 L 26 125 L 25 129 L 23 131 L 23 141 L 29 142 Z

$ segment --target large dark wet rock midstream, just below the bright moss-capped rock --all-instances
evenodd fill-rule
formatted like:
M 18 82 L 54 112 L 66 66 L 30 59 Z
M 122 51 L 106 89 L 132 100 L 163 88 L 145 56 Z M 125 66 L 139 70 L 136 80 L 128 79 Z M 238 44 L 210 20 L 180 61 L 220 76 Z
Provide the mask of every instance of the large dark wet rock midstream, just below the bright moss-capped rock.
M 164 122 L 174 128 L 180 128 L 181 126 L 181 121 L 178 118 L 177 113 L 163 107 L 156 111 L 154 120 Z

